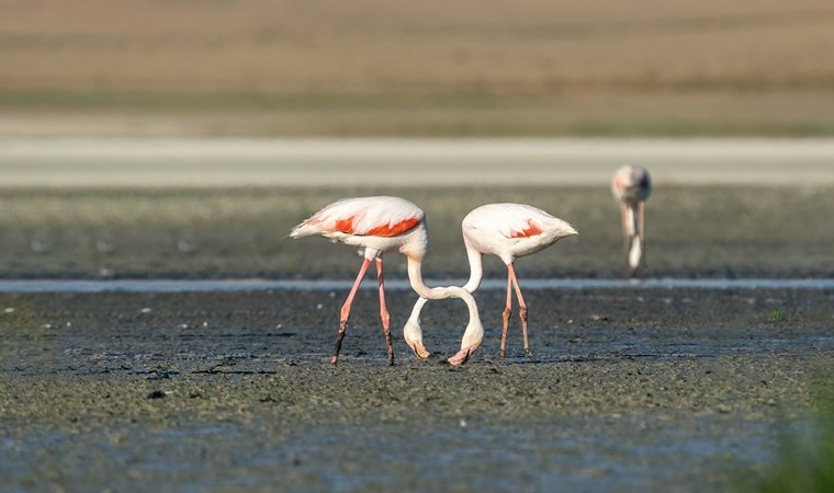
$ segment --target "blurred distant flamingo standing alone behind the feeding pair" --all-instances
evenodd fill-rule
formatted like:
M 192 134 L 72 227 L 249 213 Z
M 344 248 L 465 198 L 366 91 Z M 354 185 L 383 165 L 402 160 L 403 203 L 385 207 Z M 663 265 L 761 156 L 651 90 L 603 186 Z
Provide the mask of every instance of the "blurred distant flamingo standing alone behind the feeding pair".
M 643 204 L 652 193 L 652 176 L 645 168 L 627 164 L 611 179 L 611 193 L 620 203 L 626 263 L 633 276 L 645 263 Z

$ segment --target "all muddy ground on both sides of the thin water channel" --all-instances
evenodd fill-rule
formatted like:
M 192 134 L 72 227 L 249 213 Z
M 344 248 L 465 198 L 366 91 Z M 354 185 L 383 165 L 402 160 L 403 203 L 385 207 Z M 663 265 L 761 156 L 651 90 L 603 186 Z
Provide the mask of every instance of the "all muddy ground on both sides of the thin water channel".
M 0 193 L 7 278 L 349 279 L 350 249 L 282 237 L 331 197 L 380 191 L 47 192 Z M 465 274 L 459 216 L 491 199 L 562 210 L 581 231 L 519 261 L 522 276 L 621 275 L 605 190 L 399 192 L 430 218 L 427 277 Z M 650 275 L 831 277 L 831 197 L 658 190 Z M 388 278 L 402 266 L 392 256 Z M 486 274 L 503 275 L 497 261 Z M 388 367 L 374 289 L 331 367 L 343 296 L 0 294 L 0 489 L 726 491 L 766 474 L 834 386 L 826 288 L 531 289 L 533 358 L 514 324 L 506 360 L 504 294 L 482 290 L 486 337 L 463 368 L 443 363 L 463 306 L 428 306 L 436 354 L 418 362 L 406 290 L 390 294 Z

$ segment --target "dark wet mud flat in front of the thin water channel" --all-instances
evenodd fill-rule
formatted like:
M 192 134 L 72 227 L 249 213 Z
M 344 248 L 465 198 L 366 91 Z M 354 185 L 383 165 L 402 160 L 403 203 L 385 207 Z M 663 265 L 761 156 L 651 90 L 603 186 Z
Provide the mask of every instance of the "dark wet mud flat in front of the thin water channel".
M 462 368 L 465 310 L 343 293 L 0 294 L 7 491 L 715 491 L 755 478 L 831 388 L 830 289 L 538 289 L 532 359 L 504 293 Z M 516 322 L 514 320 L 514 322 Z

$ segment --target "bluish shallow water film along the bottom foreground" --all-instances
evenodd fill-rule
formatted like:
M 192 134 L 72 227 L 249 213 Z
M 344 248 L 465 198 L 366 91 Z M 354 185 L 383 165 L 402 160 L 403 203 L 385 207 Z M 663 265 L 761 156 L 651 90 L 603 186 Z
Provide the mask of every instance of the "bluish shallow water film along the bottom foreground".
M 724 434 L 733 426 L 731 437 Z M 82 443 L 79 450 L 77 444 Z M 124 425 L 0 440 L 7 484 L 167 491 L 707 491 L 732 467 L 769 460 L 759 423 L 702 417 L 679 426 L 645 417 L 309 426 L 270 437 L 258 423 Z M 79 454 L 80 452 L 80 454 Z M 44 455 L 57 463 L 43 463 Z M 731 462 L 728 462 L 731 458 Z M 703 471 L 710 471 L 705 474 Z M 14 491 L 14 490 L 12 490 Z M 23 491 L 23 490 L 21 490 Z M 668 491 L 668 490 L 666 490 Z

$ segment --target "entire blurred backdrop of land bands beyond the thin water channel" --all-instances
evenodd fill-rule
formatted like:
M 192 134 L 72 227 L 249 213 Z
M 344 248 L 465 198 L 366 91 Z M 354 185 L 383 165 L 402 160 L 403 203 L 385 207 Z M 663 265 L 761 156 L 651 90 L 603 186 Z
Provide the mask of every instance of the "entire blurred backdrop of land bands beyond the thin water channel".
M 651 275 L 834 274 L 826 0 L 0 12 L 2 277 L 351 276 L 284 236 L 371 194 L 426 209 L 428 276 L 466 275 L 460 220 L 503 200 L 581 232 L 522 274 L 617 276 L 626 162 L 653 173 Z

